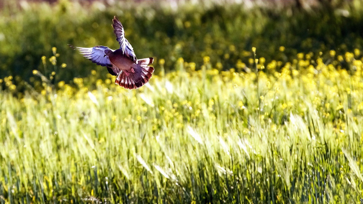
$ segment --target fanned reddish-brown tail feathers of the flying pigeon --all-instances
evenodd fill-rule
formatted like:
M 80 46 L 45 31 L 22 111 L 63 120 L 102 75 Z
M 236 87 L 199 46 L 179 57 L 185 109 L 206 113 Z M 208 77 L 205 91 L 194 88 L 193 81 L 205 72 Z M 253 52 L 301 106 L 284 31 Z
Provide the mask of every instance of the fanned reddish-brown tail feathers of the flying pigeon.
M 121 71 L 117 75 L 115 84 L 127 89 L 136 89 L 146 84 L 154 72 L 154 67 L 148 67 L 146 65 L 140 66 L 140 64 L 134 64 L 132 67 L 135 72 L 129 72 L 129 76 L 127 76 L 125 71 Z

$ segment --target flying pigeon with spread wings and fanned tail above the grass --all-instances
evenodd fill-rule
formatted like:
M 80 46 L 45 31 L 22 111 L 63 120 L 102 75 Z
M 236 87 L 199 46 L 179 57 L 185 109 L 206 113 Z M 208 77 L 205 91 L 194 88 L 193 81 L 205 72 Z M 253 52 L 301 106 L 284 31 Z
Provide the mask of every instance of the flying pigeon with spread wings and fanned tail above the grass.
M 150 80 L 154 67 L 148 65 L 154 62 L 154 58 L 137 59 L 134 49 L 125 38 L 125 30 L 123 30 L 121 22 L 116 16 L 112 22 L 116 39 L 120 45 L 119 49 L 112 50 L 106 46 L 69 46 L 93 63 L 107 67 L 111 75 L 117 76 L 115 84 L 127 89 L 137 89 Z

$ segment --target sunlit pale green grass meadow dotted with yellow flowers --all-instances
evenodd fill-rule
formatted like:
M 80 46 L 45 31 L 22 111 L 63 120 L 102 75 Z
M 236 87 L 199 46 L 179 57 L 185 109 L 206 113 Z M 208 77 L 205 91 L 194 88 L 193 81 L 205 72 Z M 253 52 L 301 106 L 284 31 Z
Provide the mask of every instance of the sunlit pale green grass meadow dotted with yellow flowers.
M 359 203 L 359 35 L 306 52 L 221 42 L 236 55 L 215 39 L 197 56 L 149 47 L 155 74 L 132 91 L 56 46 L 17 64 L 0 79 L 0 203 Z

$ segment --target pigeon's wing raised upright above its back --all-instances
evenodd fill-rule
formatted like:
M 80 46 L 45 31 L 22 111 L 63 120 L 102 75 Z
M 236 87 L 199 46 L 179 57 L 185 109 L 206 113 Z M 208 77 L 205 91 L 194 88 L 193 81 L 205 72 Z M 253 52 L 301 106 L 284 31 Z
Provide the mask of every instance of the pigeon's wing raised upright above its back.
M 112 27 L 114 28 L 114 33 L 116 35 L 118 43 L 120 44 L 120 49 L 122 50 L 122 53 L 129 57 L 132 61 L 134 61 L 134 63 L 136 63 L 137 59 L 134 53 L 134 49 L 130 45 L 129 41 L 127 41 L 127 39 L 125 38 L 125 30 L 123 30 L 121 22 L 117 19 L 116 16 L 114 16 L 112 22 Z

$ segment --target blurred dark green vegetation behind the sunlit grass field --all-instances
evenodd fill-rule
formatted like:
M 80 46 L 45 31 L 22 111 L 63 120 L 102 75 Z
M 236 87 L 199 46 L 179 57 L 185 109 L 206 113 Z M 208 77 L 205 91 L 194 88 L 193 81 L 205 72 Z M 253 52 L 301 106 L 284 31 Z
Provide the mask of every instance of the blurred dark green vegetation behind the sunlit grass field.
M 218 70 L 236 68 L 238 63 L 249 64 L 252 46 L 257 57 L 280 61 L 279 68 L 300 52 L 316 59 L 329 56 L 329 50 L 343 54 L 363 45 L 360 0 L 3 0 L 0 6 L 0 78 L 13 76 L 19 88 L 23 82 L 33 85 L 35 69 L 46 76 L 56 71 L 53 83 L 69 83 L 91 70 L 105 79 L 104 67 L 85 60 L 67 44 L 117 49 L 111 27 L 114 15 L 124 25 L 136 56 L 156 58 L 156 73 L 159 59 L 165 59 L 161 62 L 166 71 L 173 70 L 179 58 L 195 62 L 199 69 L 205 56 Z M 52 47 L 60 53 L 57 62 L 50 59 L 57 69 L 42 63 L 42 56 L 47 61 L 53 56 Z

